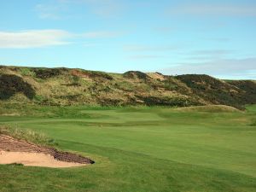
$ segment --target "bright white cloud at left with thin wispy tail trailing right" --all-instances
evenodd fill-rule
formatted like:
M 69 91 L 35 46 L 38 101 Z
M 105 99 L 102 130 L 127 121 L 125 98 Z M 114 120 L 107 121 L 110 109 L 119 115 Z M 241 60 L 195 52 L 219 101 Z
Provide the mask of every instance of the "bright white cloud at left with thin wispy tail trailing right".
M 0 32 L 0 49 L 28 49 L 72 44 L 77 38 L 113 38 L 119 32 L 72 33 L 64 30 L 28 30 L 20 32 Z M 87 46 L 89 44 L 86 44 Z

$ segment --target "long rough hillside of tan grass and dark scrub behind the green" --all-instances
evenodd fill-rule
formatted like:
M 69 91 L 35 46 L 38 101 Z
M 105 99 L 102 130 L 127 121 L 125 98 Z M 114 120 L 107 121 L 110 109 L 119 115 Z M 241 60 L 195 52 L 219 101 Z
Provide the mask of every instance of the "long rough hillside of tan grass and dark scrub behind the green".
M 0 103 L 177 107 L 221 104 L 235 108 L 256 103 L 255 81 L 195 74 L 0 66 L 0 84 Z

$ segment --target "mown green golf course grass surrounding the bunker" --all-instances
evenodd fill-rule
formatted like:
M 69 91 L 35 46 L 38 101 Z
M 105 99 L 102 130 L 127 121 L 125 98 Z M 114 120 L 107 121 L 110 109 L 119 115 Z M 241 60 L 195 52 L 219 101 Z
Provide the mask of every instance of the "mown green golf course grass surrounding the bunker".
M 45 133 L 96 164 L 2 165 L 0 191 L 256 191 L 256 106 L 247 108 L 2 108 L 0 125 Z

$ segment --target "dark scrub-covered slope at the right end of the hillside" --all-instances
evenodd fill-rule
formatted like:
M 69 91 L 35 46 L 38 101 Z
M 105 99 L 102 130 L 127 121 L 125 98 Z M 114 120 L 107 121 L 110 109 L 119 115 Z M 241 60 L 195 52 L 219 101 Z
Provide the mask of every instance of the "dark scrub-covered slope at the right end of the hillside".
M 193 91 L 212 104 L 223 104 L 235 108 L 243 108 L 242 104 L 256 102 L 255 84 L 252 81 L 224 81 L 214 79 L 208 75 L 186 74 L 178 75 L 179 79 Z M 232 83 L 233 82 L 233 83 Z

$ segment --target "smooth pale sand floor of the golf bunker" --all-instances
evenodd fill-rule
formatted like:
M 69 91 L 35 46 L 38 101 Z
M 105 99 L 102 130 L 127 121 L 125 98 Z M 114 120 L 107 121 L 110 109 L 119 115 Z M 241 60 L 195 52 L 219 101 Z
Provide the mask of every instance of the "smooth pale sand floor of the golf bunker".
M 23 164 L 24 166 L 45 166 L 52 168 L 86 166 L 80 163 L 55 160 L 49 154 L 0 151 L 0 164 L 12 163 Z

